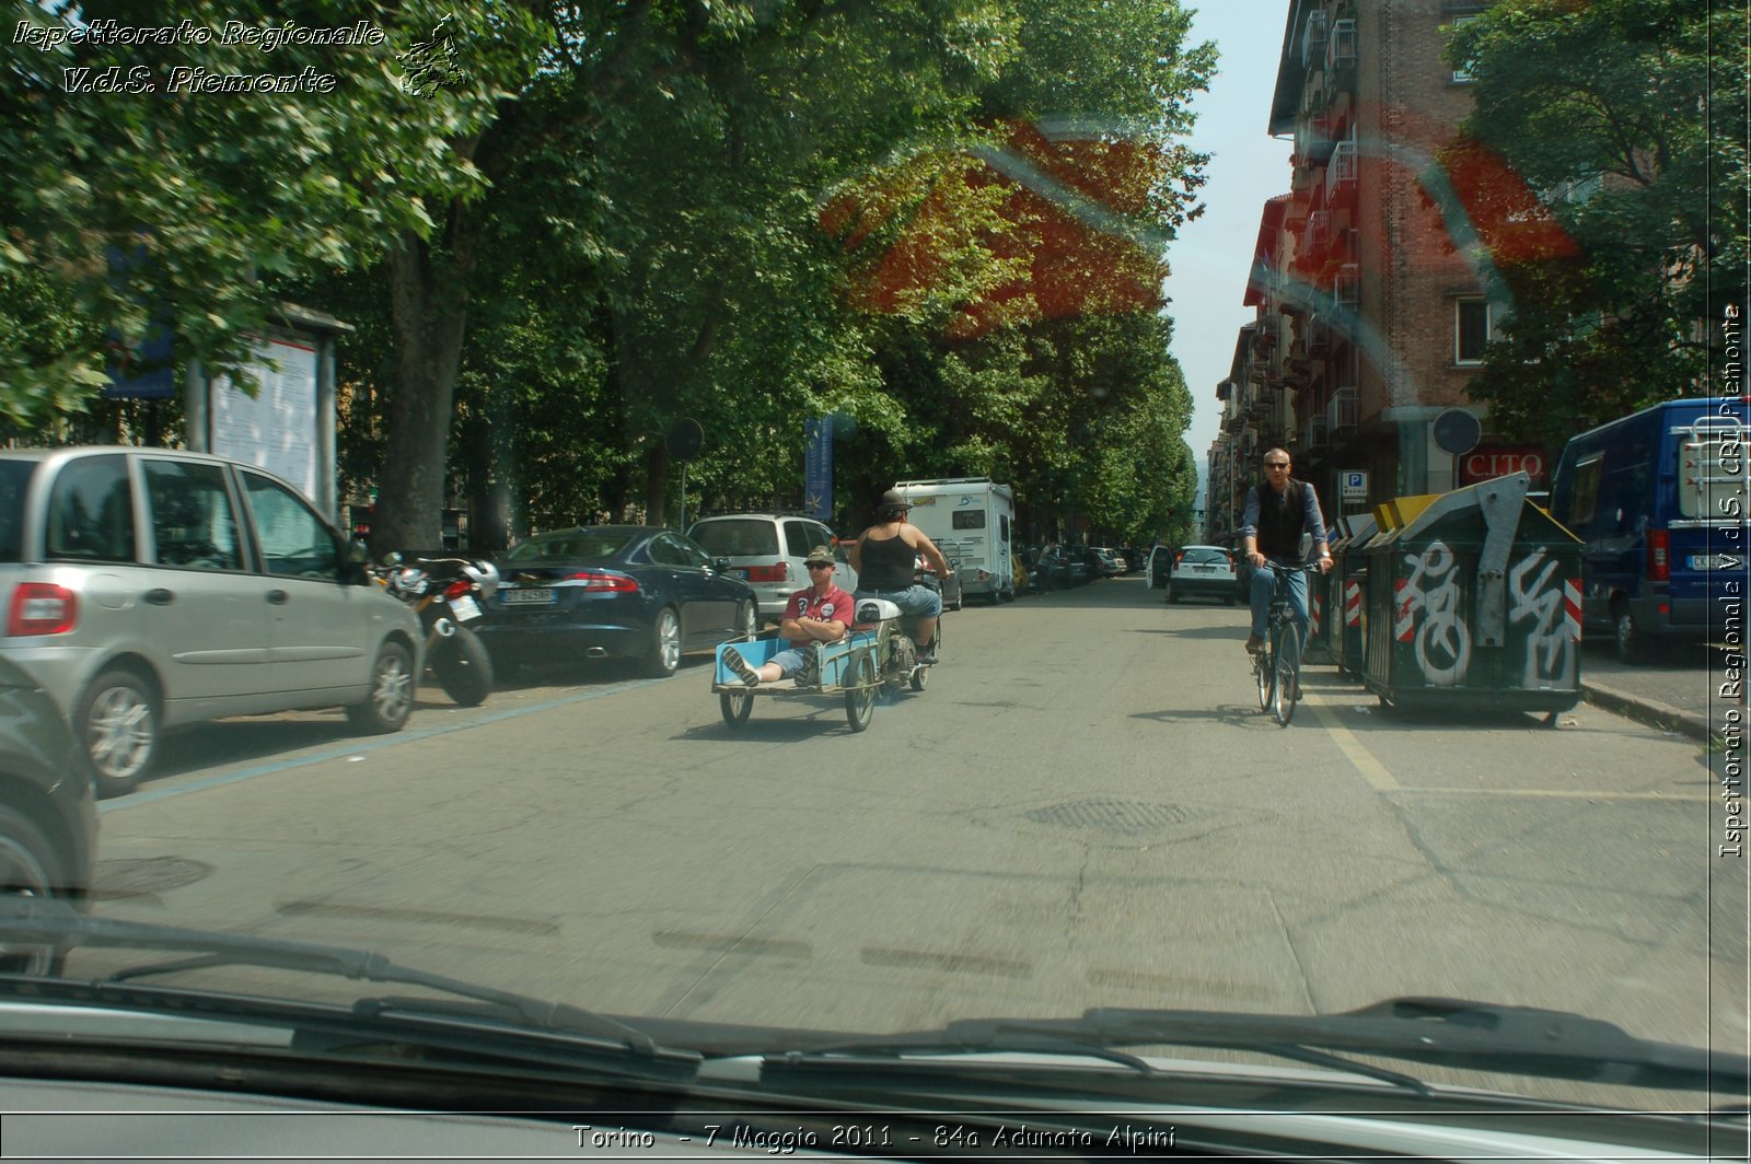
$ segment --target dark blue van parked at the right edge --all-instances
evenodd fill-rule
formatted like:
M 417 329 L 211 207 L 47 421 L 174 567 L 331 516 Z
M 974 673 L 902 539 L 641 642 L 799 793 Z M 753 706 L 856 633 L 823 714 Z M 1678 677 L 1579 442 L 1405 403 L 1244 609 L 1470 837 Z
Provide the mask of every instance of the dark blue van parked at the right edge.
M 1551 478 L 1551 515 L 1583 543 L 1581 620 L 1618 658 L 1656 642 L 1744 642 L 1746 490 L 1740 397 L 1667 401 L 1583 432 Z

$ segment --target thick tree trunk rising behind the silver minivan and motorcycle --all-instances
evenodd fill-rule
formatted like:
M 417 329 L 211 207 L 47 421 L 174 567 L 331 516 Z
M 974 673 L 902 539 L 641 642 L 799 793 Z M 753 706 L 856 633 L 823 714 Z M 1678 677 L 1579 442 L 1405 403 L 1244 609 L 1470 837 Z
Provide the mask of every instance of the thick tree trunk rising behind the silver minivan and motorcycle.
M 397 376 L 371 553 L 443 544 L 443 501 L 455 373 L 468 324 L 466 263 L 404 235 L 389 256 Z

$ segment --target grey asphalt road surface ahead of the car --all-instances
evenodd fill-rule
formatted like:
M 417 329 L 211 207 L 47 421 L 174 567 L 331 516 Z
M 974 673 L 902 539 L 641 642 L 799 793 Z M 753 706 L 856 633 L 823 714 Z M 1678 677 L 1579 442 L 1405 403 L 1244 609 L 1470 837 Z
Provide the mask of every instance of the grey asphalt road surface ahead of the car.
M 777 697 L 730 732 L 702 656 L 468 711 L 425 688 L 394 737 L 212 725 L 103 805 L 98 912 L 620 1015 L 891 1031 L 1452 996 L 1744 1047 L 1746 866 L 1716 852 L 1702 747 L 1588 704 L 1555 730 L 1389 714 L 1329 667 L 1278 728 L 1243 620 L 1135 578 L 972 606 L 928 691 L 861 735 Z

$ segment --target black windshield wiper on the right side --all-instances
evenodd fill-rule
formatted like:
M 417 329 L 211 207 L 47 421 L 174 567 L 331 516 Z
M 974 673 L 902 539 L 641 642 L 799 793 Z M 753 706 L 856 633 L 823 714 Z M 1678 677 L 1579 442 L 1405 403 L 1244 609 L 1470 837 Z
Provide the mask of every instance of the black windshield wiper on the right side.
M 933 1031 L 839 1040 L 772 1054 L 779 1066 L 830 1068 L 847 1054 L 977 1054 L 1054 1050 L 1112 1057 L 1121 1047 L 1210 1047 L 1333 1066 L 1427 1092 L 1397 1071 L 1341 1054 L 1410 1059 L 1443 1068 L 1532 1075 L 1665 1090 L 1742 1090 L 1751 1059 L 1658 1043 L 1585 1015 L 1450 998 L 1392 998 L 1336 1015 L 1203 1010 L 1087 1010 L 1079 1019 L 961 1019 Z

